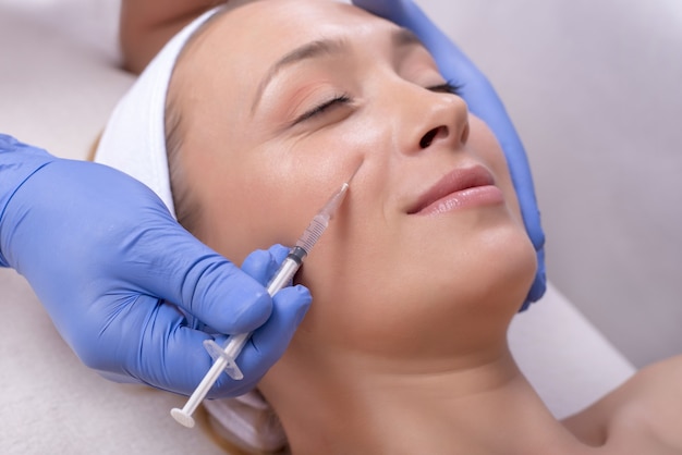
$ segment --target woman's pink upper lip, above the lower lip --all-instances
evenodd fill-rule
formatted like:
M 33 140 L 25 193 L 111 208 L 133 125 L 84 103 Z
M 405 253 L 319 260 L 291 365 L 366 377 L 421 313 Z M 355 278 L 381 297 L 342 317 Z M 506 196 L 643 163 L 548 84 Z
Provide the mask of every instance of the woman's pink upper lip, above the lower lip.
M 449 195 L 466 194 L 472 188 L 491 185 L 495 185 L 492 174 L 482 165 L 455 169 L 423 193 L 407 209 L 407 214 L 419 213 Z

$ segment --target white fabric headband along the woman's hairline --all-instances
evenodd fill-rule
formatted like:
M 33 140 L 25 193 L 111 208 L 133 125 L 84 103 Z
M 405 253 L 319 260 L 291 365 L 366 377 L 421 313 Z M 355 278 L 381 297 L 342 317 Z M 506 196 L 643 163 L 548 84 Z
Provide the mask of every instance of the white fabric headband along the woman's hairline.
M 99 140 L 95 161 L 135 177 L 156 193 L 175 217 L 166 155 L 166 94 L 178 56 L 207 11 L 185 26 L 151 60 L 117 104 Z

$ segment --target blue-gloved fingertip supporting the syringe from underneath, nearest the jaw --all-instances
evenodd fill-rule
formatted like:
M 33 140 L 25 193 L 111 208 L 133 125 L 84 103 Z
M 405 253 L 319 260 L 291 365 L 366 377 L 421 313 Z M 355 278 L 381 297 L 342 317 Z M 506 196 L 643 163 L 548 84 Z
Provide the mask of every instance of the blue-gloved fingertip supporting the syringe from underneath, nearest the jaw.
M 287 351 L 312 300 L 310 293 L 305 286 L 295 285 L 280 290 L 275 295 L 270 319 L 252 334 L 238 358 L 240 369 L 244 373 L 243 384 L 236 384 L 223 374 L 209 397 L 240 395 L 255 388 Z

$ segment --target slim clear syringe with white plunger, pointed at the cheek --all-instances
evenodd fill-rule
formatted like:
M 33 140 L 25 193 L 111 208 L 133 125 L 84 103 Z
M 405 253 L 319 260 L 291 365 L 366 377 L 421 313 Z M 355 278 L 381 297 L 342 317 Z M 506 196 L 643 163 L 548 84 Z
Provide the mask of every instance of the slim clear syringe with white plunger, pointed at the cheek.
M 357 169 L 360 169 L 360 165 Z M 301 268 L 303 260 L 310 253 L 319 237 L 329 225 L 329 220 L 331 220 L 331 217 L 333 217 L 337 209 L 341 206 L 341 202 L 343 202 L 349 185 L 357 173 L 357 169 L 353 172 L 353 175 L 351 175 L 351 177 L 343 185 L 341 185 L 341 188 L 334 192 L 322 209 L 315 217 L 313 217 L 313 221 L 310 221 L 310 224 L 308 224 L 303 235 L 301 235 L 296 245 L 291 248 L 279 270 L 268 283 L 267 291 L 270 296 L 273 296 L 279 290 L 291 282 L 296 271 Z M 230 340 L 228 340 L 224 347 L 221 347 L 212 340 L 206 340 L 204 342 L 204 347 L 206 347 L 206 351 L 208 351 L 211 355 L 215 362 L 199 385 L 197 385 L 194 390 L 182 409 L 173 408 L 171 410 L 171 416 L 173 416 L 180 425 L 187 428 L 194 427 L 194 418 L 192 415 L 202 401 L 204 401 L 208 391 L 216 383 L 218 377 L 220 377 L 223 370 L 227 371 L 230 378 L 234 380 L 244 379 L 242 370 L 236 365 L 236 358 L 249 337 L 251 332 L 232 335 L 230 336 Z

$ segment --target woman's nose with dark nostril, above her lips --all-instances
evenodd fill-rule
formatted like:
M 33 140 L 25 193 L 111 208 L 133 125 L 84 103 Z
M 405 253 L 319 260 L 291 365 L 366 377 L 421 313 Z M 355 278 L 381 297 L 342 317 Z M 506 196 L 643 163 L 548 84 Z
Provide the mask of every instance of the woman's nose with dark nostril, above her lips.
M 401 97 L 403 103 L 398 126 L 399 149 L 418 153 L 428 148 L 462 148 L 468 139 L 468 109 L 453 94 L 430 91 L 411 86 Z

